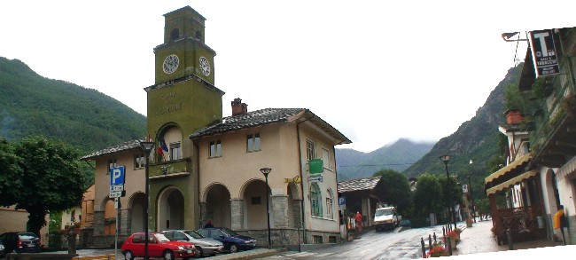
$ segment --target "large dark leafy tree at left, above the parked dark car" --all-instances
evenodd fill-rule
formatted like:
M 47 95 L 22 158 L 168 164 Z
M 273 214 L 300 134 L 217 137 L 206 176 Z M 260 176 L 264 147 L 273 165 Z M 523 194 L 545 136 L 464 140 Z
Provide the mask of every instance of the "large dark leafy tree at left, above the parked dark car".
M 14 145 L 14 153 L 21 158 L 22 174 L 17 182 L 23 188 L 12 196 L 16 209 L 25 209 L 27 230 L 40 235 L 51 211 L 60 212 L 77 206 L 86 190 L 81 172 L 80 154 L 64 143 L 43 137 L 24 138 Z

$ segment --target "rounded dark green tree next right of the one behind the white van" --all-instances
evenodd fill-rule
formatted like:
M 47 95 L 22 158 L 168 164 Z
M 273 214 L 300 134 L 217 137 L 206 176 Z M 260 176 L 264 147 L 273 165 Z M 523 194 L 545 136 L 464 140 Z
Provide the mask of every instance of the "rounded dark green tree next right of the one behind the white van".
M 437 177 L 429 173 L 418 177 L 414 204 L 416 213 L 421 217 L 439 211 L 442 205 L 442 187 Z

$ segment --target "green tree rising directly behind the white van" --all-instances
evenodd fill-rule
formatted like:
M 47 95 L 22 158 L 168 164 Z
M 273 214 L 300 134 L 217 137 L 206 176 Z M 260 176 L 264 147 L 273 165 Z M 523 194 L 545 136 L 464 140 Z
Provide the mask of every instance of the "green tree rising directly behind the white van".
M 382 184 L 384 185 L 383 197 L 385 201 L 396 206 L 401 215 L 405 215 L 406 210 L 410 209 L 413 203 L 408 178 L 393 169 L 380 170 L 373 176 L 381 176 L 384 180 Z

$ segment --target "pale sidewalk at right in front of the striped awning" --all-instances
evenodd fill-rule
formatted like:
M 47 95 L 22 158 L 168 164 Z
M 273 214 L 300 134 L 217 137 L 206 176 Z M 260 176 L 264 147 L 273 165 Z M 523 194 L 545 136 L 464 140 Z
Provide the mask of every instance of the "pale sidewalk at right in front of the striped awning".
M 492 237 L 492 232 L 490 231 L 491 228 L 492 228 L 491 220 L 477 221 L 471 227 L 465 228 L 463 232 L 460 234 L 461 241 L 458 244 L 455 251 L 453 252 L 453 255 L 463 256 L 479 253 L 508 251 L 509 250 L 508 245 L 499 246 L 496 243 L 496 240 L 494 240 L 494 238 Z M 513 244 L 515 251 L 518 249 L 548 248 L 561 245 L 562 243 L 554 242 L 551 240 L 533 240 Z

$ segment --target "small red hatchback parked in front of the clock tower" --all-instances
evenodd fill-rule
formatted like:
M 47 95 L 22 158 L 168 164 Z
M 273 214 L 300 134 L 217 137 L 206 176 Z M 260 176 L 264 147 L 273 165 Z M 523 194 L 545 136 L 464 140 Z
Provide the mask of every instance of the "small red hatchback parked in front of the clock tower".
M 122 243 L 122 254 L 128 260 L 144 256 L 145 233 L 136 232 Z M 162 257 L 165 260 L 177 258 L 188 259 L 196 254 L 191 242 L 171 241 L 162 233 L 148 232 L 148 256 Z

